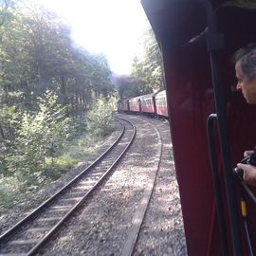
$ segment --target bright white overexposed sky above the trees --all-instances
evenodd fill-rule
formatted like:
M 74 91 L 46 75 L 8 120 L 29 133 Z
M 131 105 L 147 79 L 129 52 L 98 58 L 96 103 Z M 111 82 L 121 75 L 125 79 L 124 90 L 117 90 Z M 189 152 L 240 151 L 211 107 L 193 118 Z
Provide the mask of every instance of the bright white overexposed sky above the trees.
M 72 39 L 92 53 L 103 53 L 112 71 L 129 74 L 142 52 L 149 27 L 139 0 L 40 0 L 71 27 Z

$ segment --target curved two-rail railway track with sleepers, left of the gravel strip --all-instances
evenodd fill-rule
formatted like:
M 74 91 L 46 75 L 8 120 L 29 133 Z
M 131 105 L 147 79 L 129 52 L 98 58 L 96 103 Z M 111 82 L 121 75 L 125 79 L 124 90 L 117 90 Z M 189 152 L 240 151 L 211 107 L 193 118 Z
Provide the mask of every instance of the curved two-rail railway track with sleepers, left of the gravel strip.
M 95 162 L 77 175 L 63 189 L 49 197 L 27 217 L 0 235 L 0 255 L 34 255 L 51 236 L 95 191 L 136 136 L 135 126 L 117 119 L 123 126 L 119 138 Z

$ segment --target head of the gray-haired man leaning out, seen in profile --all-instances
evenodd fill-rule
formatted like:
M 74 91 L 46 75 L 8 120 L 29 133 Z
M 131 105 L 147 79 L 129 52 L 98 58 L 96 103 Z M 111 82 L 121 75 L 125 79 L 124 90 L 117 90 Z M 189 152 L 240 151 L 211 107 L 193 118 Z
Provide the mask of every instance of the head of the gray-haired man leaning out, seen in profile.
M 236 88 L 249 104 L 256 104 L 256 44 L 240 48 L 234 54 Z

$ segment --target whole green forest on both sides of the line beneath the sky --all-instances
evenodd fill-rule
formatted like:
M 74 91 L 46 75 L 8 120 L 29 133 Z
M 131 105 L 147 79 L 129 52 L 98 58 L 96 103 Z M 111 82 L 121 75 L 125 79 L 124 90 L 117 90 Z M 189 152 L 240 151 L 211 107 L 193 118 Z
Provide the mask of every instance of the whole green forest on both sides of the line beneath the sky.
M 163 88 L 151 29 L 132 74 L 115 80 L 105 56 L 75 46 L 55 13 L 27 3 L 0 0 L 0 213 L 92 154 L 112 132 L 118 97 Z

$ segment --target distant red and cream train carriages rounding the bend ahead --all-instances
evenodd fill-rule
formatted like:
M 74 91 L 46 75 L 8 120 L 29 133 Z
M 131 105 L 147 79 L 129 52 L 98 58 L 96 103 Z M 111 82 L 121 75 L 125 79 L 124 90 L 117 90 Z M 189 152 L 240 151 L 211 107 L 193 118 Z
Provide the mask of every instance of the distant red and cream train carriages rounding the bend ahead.
M 118 108 L 122 112 L 143 113 L 168 118 L 165 90 L 120 100 Z

